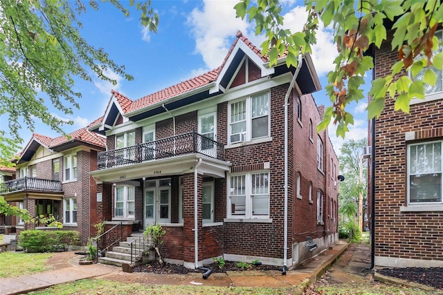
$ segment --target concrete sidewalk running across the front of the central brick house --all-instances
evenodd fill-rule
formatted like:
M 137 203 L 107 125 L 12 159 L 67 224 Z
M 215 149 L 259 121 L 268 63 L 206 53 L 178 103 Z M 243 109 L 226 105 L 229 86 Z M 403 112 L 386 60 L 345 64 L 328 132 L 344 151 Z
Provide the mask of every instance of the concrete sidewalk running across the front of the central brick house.
M 69 283 L 84 278 L 103 278 L 124 283 L 148 283 L 162 285 L 208 285 L 220 287 L 300 287 L 302 289 L 322 276 L 347 249 L 349 244 L 339 241 L 332 249 L 315 256 L 299 265 L 297 269 L 287 271 L 282 276 L 278 271 L 244 271 L 226 272 L 226 274 L 211 274 L 204 280 L 201 274 L 166 275 L 147 273 L 125 273 L 121 267 L 109 265 L 78 265 L 79 256 L 73 252 L 64 252 L 58 258 L 51 258 L 49 264 L 57 268 L 48 272 L 0 279 L 0 294 L 24 294 L 53 285 Z M 62 257 L 60 257 L 62 256 Z M 58 263 L 57 263 L 58 261 Z M 61 262 L 60 262 L 61 261 Z

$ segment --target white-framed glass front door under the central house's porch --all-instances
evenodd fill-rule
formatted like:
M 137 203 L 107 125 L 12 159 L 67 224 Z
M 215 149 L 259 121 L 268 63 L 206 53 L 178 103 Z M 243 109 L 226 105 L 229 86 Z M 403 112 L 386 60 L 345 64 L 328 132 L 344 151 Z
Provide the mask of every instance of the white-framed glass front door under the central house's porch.
M 170 223 L 171 187 L 169 184 L 170 179 L 145 182 L 144 227 L 156 223 Z

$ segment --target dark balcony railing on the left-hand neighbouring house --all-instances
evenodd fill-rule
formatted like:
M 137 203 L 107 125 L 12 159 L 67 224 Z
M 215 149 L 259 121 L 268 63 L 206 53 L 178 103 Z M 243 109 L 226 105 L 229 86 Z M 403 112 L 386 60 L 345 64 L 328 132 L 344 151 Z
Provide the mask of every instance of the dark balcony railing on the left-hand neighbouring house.
M 0 193 L 12 193 L 14 191 L 62 191 L 62 184 L 58 180 L 42 178 L 17 178 L 0 183 Z

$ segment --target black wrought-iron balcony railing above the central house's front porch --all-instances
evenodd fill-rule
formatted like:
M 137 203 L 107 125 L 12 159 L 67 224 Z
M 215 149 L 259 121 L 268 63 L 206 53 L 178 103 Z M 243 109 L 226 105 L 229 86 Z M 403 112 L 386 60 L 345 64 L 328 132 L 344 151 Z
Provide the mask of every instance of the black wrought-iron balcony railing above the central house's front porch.
M 98 170 L 196 153 L 217 160 L 224 160 L 223 144 L 199 133 L 190 132 L 137 144 L 136 146 L 128 146 L 123 149 L 98 153 Z

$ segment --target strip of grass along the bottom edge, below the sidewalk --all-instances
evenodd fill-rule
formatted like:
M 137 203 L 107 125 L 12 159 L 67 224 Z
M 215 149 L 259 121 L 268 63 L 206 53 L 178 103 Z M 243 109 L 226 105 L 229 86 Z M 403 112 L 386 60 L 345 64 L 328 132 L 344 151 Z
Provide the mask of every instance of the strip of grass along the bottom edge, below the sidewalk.
M 56 285 L 42 291 L 30 292 L 30 295 L 118 295 L 118 294 L 155 294 L 155 295 L 289 295 L 293 288 L 246 288 L 246 287 L 208 287 L 208 286 L 172 286 L 147 285 L 141 283 L 120 283 L 112 280 L 88 279 L 75 283 Z

